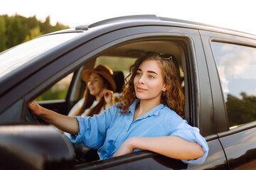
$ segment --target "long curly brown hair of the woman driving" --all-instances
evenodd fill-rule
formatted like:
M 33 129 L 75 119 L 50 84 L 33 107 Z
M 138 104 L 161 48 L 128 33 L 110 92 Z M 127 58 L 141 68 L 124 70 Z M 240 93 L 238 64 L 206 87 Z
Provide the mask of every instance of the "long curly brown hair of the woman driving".
M 137 99 L 134 89 L 134 77 L 137 74 L 140 64 L 145 60 L 154 60 L 162 70 L 164 83 L 167 84 L 166 91 L 161 95 L 161 103 L 176 111 L 181 118 L 184 118 L 184 94 L 181 88 L 181 81 L 178 77 L 178 70 L 170 58 L 165 58 L 158 52 L 146 52 L 144 57 L 138 60 L 129 68 L 129 75 L 125 78 L 123 94 L 119 98 L 119 104 L 115 104 L 120 109 L 120 113 L 128 113 L 129 106 Z

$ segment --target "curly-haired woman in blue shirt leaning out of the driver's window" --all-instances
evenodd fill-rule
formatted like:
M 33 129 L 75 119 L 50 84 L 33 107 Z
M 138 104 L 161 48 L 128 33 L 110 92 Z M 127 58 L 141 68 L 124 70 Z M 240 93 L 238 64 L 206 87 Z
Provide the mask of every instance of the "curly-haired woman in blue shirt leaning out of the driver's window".
M 147 52 L 130 67 L 120 102 L 93 117 L 68 117 L 31 102 L 31 111 L 71 134 L 71 141 L 98 149 L 100 159 L 149 150 L 201 164 L 208 145 L 183 120 L 184 96 L 171 57 Z

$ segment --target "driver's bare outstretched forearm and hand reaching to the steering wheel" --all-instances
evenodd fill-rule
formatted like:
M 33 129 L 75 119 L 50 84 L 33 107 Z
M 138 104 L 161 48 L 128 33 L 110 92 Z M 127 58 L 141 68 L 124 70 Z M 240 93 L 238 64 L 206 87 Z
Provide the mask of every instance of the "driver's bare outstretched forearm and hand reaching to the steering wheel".
M 76 135 L 79 132 L 78 120 L 76 118 L 60 115 L 54 111 L 50 111 L 47 108 L 43 108 L 38 105 L 35 101 L 31 101 L 28 104 L 28 108 L 35 115 L 45 120 L 47 123 L 54 125 L 56 128 L 68 132 L 70 134 Z

